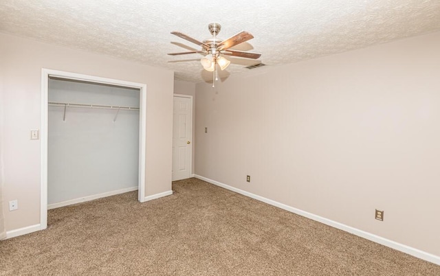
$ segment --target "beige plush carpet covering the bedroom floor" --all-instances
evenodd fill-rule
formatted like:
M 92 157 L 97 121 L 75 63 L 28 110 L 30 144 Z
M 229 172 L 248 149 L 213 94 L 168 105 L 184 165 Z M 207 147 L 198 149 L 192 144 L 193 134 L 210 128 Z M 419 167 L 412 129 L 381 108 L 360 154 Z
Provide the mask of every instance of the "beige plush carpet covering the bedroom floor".
M 440 266 L 200 181 L 49 211 L 0 242 L 1 275 L 440 275 Z

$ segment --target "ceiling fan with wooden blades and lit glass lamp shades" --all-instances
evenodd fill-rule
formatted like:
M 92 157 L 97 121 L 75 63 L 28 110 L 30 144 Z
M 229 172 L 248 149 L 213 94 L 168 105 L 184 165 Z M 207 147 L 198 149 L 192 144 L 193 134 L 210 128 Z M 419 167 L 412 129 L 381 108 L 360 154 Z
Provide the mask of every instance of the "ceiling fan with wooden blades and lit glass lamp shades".
M 217 34 L 219 34 L 221 30 L 221 25 L 219 23 L 210 23 L 208 25 L 208 30 L 210 31 L 212 37 L 207 38 L 203 42 L 197 41 L 197 39 L 187 36 L 186 34 L 182 34 L 181 32 L 171 32 L 171 34 L 174 34 L 175 36 L 179 36 L 180 38 L 184 38 L 187 41 L 201 46 L 201 50 L 185 51 L 183 53 L 172 53 L 168 55 L 177 56 L 186 54 L 206 54 L 206 56 L 201 58 L 200 62 L 206 71 L 212 72 L 212 78 L 214 80 L 218 80 L 217 67 L 220 67 L 221 70 L 224 70 L 226 67 L 228 67 L 228 65 L 230 65 L 230 61 L 224 58 L 223 55 L 253 59 L 261 56 L 261 54 L 250 53 L 248 51 L 237 51 L 230 49 L 230 47 L 239 45 L 240 43 L 254 38 L 254 36 L 248 32 L 239 32 L 238 34 L 234 34 L 234 36 L 222 41 L 220 38 L 217 38 Z M 212 87 L 214 87 L 214 80 L 212 81 Z

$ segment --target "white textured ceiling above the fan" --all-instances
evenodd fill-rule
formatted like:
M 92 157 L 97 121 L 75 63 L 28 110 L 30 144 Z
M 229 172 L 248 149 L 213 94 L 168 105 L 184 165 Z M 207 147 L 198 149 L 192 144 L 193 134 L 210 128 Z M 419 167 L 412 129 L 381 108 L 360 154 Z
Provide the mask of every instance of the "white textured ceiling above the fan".
M 94 51 L 175 71 L 176 80 L 210 81 L 199 50 L 173 36 L 203 41 L 208 23 L 221 24 L 220 38 L 241 30 L 254 39 L 234 47 L 261 53 L 258 61 L 227 57 L 221 77 L 256 62 L 266 67 L 336 54 L 440 30 L 440 0 L 1 0 L 0 32 Z

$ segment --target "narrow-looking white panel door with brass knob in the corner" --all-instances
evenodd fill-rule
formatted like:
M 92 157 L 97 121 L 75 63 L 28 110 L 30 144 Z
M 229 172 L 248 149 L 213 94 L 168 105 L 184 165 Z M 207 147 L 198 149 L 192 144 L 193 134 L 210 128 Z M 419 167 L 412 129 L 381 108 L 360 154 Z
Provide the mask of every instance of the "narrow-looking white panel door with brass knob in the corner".
M 174 96 L 173 181 L 189 179 L 192 153 L 192 97 Z

